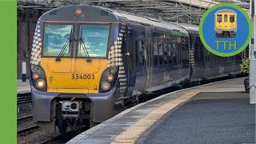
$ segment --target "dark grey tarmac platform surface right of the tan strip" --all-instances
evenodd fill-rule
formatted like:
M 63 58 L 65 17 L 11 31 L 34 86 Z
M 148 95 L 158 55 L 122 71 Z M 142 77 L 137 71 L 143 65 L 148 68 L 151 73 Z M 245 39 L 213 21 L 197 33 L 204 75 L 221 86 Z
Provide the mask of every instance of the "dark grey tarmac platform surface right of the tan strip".
M 187 102 L 155 126 L 141 143 L 254 143 L 255 106 L 248 95 L 229 93 L 222 99 L 198 99 Z M 213 95 L 203 93 L 202 95 Z M 223 93 L 221 93 L 223 94 Z M 218 95 L 221 95 L 218 94 Z M 244 96 L 238 98 L 238 96 Z M 195 96 L 197 97 L 197 96 Z

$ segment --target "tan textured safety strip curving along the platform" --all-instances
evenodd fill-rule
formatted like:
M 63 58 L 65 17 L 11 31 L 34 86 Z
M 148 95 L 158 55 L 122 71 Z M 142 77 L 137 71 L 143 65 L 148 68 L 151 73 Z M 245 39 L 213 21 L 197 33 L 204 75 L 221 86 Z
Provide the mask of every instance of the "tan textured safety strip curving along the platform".
M 157 122 L 164 114 L 168 111 L 174 109 L 176 106 L 182 102 L 188 101 L 194 95 L 202 92 L 202 90 L 193 90 L 189 93 L 182 95 L 180 98 L 177 98 L 171 102 L 160 106 L 158 109 L 153 110 L 150 114 L 147 114 L 144 118 L 136 122 L 133 126 L 130 126 L 127 130 L 123 131 L 122 134 L 119 134 L 118 137 L 114 138 L 111 144 L 130 144 L 134 143 L 140 135 L 145 132 L 150 126 Z

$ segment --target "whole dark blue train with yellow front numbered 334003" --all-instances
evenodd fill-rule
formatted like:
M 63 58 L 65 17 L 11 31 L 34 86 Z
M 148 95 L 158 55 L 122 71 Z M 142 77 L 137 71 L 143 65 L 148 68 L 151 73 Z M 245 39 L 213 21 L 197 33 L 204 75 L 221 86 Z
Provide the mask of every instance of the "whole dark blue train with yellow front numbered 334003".
M 198 26 L 99 6 L 38 19 L 30 58 L 33 118 L 60 133 L 95 126 L 159 90 L 241 74 L 245 52 L 218 57 Z

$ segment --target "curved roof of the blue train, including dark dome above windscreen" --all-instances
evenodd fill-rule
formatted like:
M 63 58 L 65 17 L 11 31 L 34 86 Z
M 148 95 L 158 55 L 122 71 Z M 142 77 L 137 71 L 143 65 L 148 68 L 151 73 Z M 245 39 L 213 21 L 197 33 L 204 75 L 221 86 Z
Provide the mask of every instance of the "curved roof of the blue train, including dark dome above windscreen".
M 91 13 L 93 15 L 86 15 L 86 17 L 79 18 L 80 21 L 91 21 L 96 17 L 96 14 L 102 14 L 102 10 L 109 14 L 108 20 L 109 22 L 138 22 L 144 25 L 157 26 L 167 30 L 178 30 L 182 33 L 188 34 L 189 31 L 198 31 L 198 26 L 188 25 L 178 22 L 165 22 L 155 18 L 149 18 L 145 16 L 137 16 L 135 14 L 130 14 L 120 10 L 110 10 L 108 8 L 100 7 L 100 6 L 87 6 L 87 5 L 77 5 L 77 6 L 62 6 L 58 7 L 54 10 L 50 10 L 42 15 L 39 18 L 42 21 L 56 19 L 58 21 L 75 21 L 74 19 L 74 9 L 82 8 L 85 13 Z M 55 14 L 61 14 L 61 16 Z M 107 18 L 101 17 L 98 18 L 98 22 L 105 22 Z M 50 22 L 50 21 L 49 21 Z M 107 21 L 106 21 L 107 22 Z

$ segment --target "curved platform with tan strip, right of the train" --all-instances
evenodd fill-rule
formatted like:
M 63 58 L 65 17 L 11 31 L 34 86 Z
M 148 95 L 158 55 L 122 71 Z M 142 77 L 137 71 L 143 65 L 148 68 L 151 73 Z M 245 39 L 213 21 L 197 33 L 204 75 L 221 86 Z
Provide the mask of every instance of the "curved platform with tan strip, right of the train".
M 255 143 L 255 105 L 245 93 L 244 79 L 164 94 L 67 143 Z

